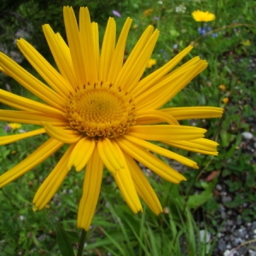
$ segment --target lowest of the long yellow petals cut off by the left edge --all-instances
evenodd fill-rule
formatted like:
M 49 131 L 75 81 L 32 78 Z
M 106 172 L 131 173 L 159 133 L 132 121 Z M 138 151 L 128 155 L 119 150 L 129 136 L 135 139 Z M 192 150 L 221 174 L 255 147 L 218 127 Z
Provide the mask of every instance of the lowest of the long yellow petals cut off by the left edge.
M 8 172 L 4 172 L 0 176 L 0 188 L 11 183 L 16 178 L 30 171 L 38 164 L 46 160 L 51 154 L 54 154 L 64 143 L 49 138 L 43 145 L 30 154 L 25 160 L 22 160 L 17 166 L 11 168 Z

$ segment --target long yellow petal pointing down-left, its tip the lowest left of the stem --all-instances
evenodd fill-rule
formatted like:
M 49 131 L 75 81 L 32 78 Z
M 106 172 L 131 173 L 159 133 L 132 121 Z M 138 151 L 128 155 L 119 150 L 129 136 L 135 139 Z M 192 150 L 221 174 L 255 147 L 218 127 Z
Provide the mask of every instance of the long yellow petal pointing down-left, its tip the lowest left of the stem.
M 38 210 L 42 210 L 49 203 L 56 191 L 60 188 L 64 178 L 67 176 L 67 160 L 73 150 L 73 147 L 74 145 L 71 145 L 65 154 L 63 154 L 61 160 L 52 172 L 49 173 L 49 176 L 44 180 L 44 183 L 42 183 L 34 196 L 33 204 L 35 204 Z

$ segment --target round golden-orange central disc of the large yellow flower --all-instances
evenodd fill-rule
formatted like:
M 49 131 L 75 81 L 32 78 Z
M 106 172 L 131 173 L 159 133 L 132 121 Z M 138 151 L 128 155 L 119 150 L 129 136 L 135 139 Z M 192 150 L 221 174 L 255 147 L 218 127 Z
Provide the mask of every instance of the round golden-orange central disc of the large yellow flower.
M 135 125 L 135 103 L 112 84 L 84 85 L 68 97 L 65 117 L 72 129 L 86 136 L 118 137 Z

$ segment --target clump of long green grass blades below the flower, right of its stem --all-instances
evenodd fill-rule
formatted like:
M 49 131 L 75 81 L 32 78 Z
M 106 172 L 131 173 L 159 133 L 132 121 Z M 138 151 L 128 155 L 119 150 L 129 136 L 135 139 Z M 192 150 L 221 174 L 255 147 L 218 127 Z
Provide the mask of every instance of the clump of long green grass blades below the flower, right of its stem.
M 162 187 L 171 189 L 172 197 L 164 199 L 168 207 L 159 217 L 148 212 L 147 207 L 142 214 L 132 215 L 127 207 L 116 206 L 113 198 L 104 193 L 103 197 L 108 201 L 105 216 L 108 217 L 95 217 L 95 229 L 88 237 L 93 242 L 85 247 L 85 251 L 89 255 L 95 255 L 93 252 L 97 251 L 102 255 L 109 252 L 124 256 L 178 256 L 206 252 L 210 245 L 200 240 L 199 229 L 189 210 L 184 208 L 183 197 L 178 194 L 177 186 L 164 183 L 156 189 Z

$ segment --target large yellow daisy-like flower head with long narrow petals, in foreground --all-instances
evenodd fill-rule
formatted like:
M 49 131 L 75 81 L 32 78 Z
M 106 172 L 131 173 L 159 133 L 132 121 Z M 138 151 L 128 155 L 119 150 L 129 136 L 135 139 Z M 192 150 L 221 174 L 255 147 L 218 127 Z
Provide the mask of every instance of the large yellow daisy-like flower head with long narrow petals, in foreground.
M 40 102 L 36 102 L 0 90 L 0 101 L 16 109 L 0 110 L 0 120 L 43 125 L 35 131 L 1 137 L 0 144 L 41 133 L 49 135 L 25 160 L 0 176 L 0 188 L 38 166 L 67 143 L 66 153 L 33 199 L 38 210 L 47 206 L 74 166 L 76 172 L 84 172 L 77 225 L 88 230 L 105 166 L 113 174 L 132 212 L 142 211 L 139 195 L 155 214 L 159 214 L 162 212 L 160 201 L 137 161 L 171 183 L 180 183 L 186 178 L 154 153 L 192 168 L 198 166 L 195 161 L 167 150 L 166 146 L 162 148 L 149 141 L 201 154 L 218 154 L 218 143 L 204 138 L 207 130 L 179 125 L 178 120 L 220 117 L 222 108 L 161 108 L 201 73 L 207 62 L 195 57 L 172 70 L 189 54 L 192 46 L 188 46 L 165 66 L 142 79 L 159 36 L 158 30 L 148 26 L 124 63 L 130 18 L 125 21 L 117 43 L 116 24 L 109 18 L 100 50 L 98 26 L 90 21 L 89 10 L 80 9 L 79 25 L 72 8 L 64 7 L 63 12 L 68 44 L 49 25 L 43 26 L 59 71 L 26 40 L 17 42 L 45 84 L 0 53 L 3 72 L 40 98 Z

